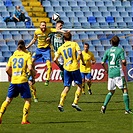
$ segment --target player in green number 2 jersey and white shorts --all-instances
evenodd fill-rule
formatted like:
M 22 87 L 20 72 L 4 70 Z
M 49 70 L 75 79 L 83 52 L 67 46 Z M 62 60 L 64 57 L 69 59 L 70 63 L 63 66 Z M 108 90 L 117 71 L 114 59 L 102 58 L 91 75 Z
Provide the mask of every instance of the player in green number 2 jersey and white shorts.
M 114 36 L 110 42 L 112 47 L 104 53 L 102 60 L 102 65 L 105 71 L 108 73 L 108 90 L 109 93 L 106 95 L 103 106 L 101 107 L 101 113 L 105 113 L 107 105 L 115 93 L 116 86 L 123 92 L 123 100 L 125 104 L 125 114 L 132 113 L 129 109 L 129 96 L 128 89 L 125 80 L 125 76 L 122 70 L 122 65 L 126 66 L 126 59 L 124 56 L 124 50 L 119 45 L 119 37 Z M 105 65 L 105 62 L 108 61 L 108 68 Z

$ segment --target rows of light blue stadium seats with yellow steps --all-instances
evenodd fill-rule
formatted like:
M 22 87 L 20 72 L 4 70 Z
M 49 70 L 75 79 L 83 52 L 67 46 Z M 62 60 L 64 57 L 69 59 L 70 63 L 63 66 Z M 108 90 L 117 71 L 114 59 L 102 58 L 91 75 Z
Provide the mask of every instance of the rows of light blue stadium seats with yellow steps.
M 40 2 L 41 3 L 40 3 Z M 0 27 L 2 28 L 32 28 L 39 26 L 38 22 L 43 18 L 42 15 L 48 17 L 48 26 L 53 26 L 49 22 L 55 23 L 51 20 L 51 16 L 58 12 L 61 19 L 65 22 L 64 28 L 133 28 L 132 20 L 132 3 L 130 1 L 122 2 L 120 0 L 39 0 L 37 2 L 31 2 L 27 6 L 21 0 L 4 0 L 0 1 Z M 6 16 L 11 16 L 15 10 L 16 5 L 20 5 L 25 11 L 26 16 L 32 17 L 30 22 L 7 22 L 3 21 Z M 41 5 L 43 8 L 41 8 Z M 36 7 L 37 6 L 37 7 Z M 34 8 L 32 8 L 34 7 Z M 40 8 L 38 8 L 40 7 Z M 45 12 L 44 12 L 45 11 Z M 92 34 L 91 34 L 92 33 Z M 106 33 L 103 34 L 103 33 Z M 124 32 L 125 34 L 131 34 L 131 32 Z M 124 36 L 124 33 L 120 33 L 119 36 Z M 16 43 L 19 39 L 24 39 L 26 43 L 29 43 L 32 39 L 34 31 L 2 31 L 0 33 L 0 43 L 4 44 L 2 50 L 5 53 L 0 53 L 0 61 L 4 61 L 16 49 Z M 101 35 L 100 35 L 101 34 Z M 96 56 L 103 56 L 103 50 L 110 47 L 109 39 L 115 34 L 112 32 L 93 32 L 87 31 L 84 34 L 76 32 L 73 35 L 74 40 L 87 40 L 91 45 L 90 50 L 94 51 Z M 125 40 L 126 39 L 126 40 Z M 124 47 L 126 51 L 131 50 L 132 38 L 125 38 L 120 42 L 120 46 Z M 130 41 L 129 41 L 130 40 Z M 83 48 L 83 43 L 80 41 L 79 45 Z M 30 50 L 35 50 L 34 45 Z M 129 50 L 128 50 L 129 49 Z M 7 55 L 10 51 L 9 55 Z M 129 52 L 130 53 L 130 52 Z M 6 58 L 4 58 L 4 56 Z M 128 54 L 131 57 L 131 54 Z M 128 58 L 130 61 L 131 58 Z M 99 58 L 97 58 L 100 61 Z

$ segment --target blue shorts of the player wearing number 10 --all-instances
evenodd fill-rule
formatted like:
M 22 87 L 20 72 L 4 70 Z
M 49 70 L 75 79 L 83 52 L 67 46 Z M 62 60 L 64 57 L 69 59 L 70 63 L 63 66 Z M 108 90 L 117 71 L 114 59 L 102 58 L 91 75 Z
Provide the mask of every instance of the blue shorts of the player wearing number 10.
M 64 70 L 64 86 L 70 87 L 73 80 L 76 84 L 82 84 L 82 78 L 79 69 L 76 71 Z

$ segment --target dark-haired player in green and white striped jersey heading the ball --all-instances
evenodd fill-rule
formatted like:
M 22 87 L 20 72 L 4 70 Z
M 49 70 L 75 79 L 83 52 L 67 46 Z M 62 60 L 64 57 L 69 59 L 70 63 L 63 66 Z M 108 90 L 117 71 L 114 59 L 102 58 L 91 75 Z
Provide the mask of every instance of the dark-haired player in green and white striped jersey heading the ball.
M 63 25 L 64 25 L 64 22 L 62 20 L 58 20 L 56 22 L 56 30 L 57 31 L 61 30 Z M 51 32 L 49 34 L 49 37 L 50 37 L 50 43 L 52 45 L 51 54 L 52 54 L 52 58 L 54 58 L 58 48 L 64 43 L 64 34 L 62 32 Z M 60 74 L 61 74 L 62 80 L 64 81 L 64 73 L 63 73 L 64 60 L 62 56 L 58 58 L 58 62 L 59 62 L 59 68 L 61 70 Z

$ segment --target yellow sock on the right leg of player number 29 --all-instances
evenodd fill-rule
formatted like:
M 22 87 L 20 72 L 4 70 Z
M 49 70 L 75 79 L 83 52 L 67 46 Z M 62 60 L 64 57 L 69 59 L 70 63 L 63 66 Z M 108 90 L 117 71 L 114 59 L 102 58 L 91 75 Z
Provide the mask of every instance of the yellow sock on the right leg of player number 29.
M 29 114 L 29 110 L 30 110 L 30 104 L 26 102 L 24 104 L 24 108 L 23 108 L 22 122 L 27 122 L 27 117 L 28 117 L 28 114 Z

